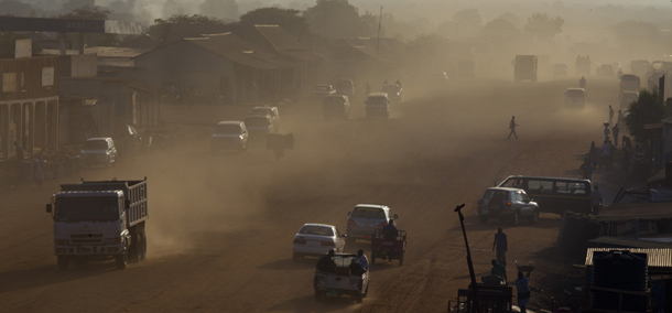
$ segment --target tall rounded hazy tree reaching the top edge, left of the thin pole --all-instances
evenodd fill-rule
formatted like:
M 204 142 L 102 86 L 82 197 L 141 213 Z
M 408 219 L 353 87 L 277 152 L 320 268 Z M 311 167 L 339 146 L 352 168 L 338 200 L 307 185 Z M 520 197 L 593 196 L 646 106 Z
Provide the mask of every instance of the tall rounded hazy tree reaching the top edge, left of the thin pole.
M 358 10 L 348 0 L 317 0 L 304 17 L 311 31 L 317 35 L 342 39 L 357 37 L 362 33 Z

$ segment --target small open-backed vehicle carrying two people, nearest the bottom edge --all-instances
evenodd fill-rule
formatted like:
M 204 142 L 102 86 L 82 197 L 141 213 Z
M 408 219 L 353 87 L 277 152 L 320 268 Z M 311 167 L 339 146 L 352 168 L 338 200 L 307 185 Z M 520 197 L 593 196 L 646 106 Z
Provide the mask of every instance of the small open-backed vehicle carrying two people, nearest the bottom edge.
M 350 272 L 350 263 L 358 259 L 357 255 L 335 253 L 332 258 L 336 266 L 334 272 L 316 270 L 313 278 L 315 300 L 321 301 L 327 295 L 350 295 L 361 303 L 369 291 L 369 271 Z

